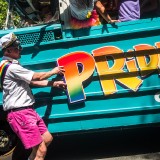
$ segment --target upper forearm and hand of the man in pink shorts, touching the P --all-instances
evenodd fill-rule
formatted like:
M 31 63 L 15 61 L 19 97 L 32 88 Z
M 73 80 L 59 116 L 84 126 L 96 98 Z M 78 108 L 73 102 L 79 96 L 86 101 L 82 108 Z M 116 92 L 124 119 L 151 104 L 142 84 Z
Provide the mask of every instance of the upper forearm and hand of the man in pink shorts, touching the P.
M 65 70 L 64 70 L 64 67 L 62 67 L 62 66 L 55 67 L 51 71 L 48 71 L 48 72 L 35 72 L 33 74 L 32 81 L 39 81 L 39 80 L 41 81 L 44 79 L 48 79 L 49 77 L 51 77 L 54 74 L 63 75 L 64 72 L 65 72 Z

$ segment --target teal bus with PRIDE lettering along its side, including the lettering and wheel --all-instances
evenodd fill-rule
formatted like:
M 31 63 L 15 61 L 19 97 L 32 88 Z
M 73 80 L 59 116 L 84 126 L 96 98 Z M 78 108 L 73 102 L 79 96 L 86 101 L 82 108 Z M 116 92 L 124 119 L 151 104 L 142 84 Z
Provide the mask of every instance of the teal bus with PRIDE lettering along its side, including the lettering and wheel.
M 51 78 L 64 79 L 66 91 L 32 87 L 35 109 L 49 131 L 61 135 L 159 125 L 160 12 L 73 30 L 69 1 L 52 5 L 58 14 L 53 22 L 0 31 L 0 37 L 9 32 L 18 36 L 24 67 L 36 72 L 65 68 L 63 77 Z M 15 6 L 29 15 L 18 1 Z M 15 144 L 2 106 L 1 91 L 0 148 L 5 153 Z

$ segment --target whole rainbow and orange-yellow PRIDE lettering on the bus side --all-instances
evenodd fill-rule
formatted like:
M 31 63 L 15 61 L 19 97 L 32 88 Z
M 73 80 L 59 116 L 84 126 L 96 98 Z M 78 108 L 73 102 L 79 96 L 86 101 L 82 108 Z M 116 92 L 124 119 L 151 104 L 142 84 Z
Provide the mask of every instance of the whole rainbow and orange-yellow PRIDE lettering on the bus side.
M 104 95 L 117 92 L 116 82 L 136 92 L 143 83 L 140 76 L 144 78 L 159 70 L 158 49 L 160 42 L 155 43 L 155 47 L 139 44 L 127 53 L 115 46 L 104 46 L 93 50 L 92 55 L 76 51 L 60 57 L 57 62 L 59 66 L 65 68 L 64 78 L 69 102 L 75 103 L 86 99 L 83 83 L 92 76 L 95 66 Z M 113 60 L 112 66 L 109 64 L 109 59 Z

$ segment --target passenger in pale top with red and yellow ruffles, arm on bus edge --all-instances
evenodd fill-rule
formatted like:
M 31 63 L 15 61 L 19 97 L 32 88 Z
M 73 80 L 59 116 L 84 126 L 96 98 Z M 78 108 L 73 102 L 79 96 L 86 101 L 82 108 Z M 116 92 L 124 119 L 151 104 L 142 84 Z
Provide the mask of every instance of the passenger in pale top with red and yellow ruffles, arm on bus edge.
M 69 0 L 71 11 L 71 28 L 80 29 L 101 24 L 98 13 L 108 22 L 114 23 L 100 0 Z

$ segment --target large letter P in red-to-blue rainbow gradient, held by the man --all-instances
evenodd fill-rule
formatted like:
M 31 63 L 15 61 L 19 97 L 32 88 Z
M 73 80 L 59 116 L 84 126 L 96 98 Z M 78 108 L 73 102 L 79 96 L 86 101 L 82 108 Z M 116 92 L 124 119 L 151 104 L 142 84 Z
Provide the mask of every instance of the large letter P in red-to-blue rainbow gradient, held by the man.
M 69 102 L 74 103 L 86 99 L 82 82 L 94 72 L 93 57 L 86 52 L 77 51 L 59 58 L 58 65 L 64 66 L 65 69 L 64 77 L 67 83 Z

